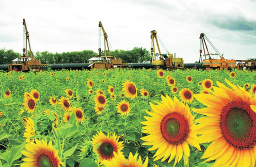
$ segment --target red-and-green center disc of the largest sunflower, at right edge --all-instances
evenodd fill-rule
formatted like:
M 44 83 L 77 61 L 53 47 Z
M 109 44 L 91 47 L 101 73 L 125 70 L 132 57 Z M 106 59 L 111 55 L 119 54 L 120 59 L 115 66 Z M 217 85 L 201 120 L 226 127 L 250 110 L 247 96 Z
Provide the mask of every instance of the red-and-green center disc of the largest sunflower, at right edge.
M 256 113 L 248 103 L 232 101 L 222 108 L 220 129 L 233 147 L 243 150 L 256 145 Z

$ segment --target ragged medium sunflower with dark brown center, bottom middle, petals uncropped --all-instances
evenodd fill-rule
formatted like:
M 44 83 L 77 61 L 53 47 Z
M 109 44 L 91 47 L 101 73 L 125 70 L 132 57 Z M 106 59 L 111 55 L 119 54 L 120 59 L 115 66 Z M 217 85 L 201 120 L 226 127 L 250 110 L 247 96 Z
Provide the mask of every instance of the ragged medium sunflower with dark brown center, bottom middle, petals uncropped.
M 110 136 L 109 133 L 107 136 L 104 135 L 101 131 L 98 132 L 92 138 L 92 144 L 94 146 L 94 151 L 98 154 L 98 160 L 101 162 L 103 160 L 112 160 L 114 157 L 113 152 L 116 152 L 117 155 L 123 154 L 121 150 L 123 149 L 123 142 L 118 142 L 116 133 L 113 136 Z M 96 146 L 101 142 L 99 147 L 96 149 Z

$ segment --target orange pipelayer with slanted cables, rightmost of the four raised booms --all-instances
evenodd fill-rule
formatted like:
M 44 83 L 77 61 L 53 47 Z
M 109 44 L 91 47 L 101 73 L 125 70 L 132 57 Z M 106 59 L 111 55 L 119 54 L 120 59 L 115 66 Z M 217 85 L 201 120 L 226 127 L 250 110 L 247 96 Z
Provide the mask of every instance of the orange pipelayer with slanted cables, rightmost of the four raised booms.
M 220 54 L 220 52 L 216 49 L 216 47 L 212 44 L 212 42 L 206 37 L 205 34 L 201 33 L 200 34 L 200 58 L 199 58 L 199 63 L 201 61 L 202 67 L 205 68 L 207 71 L 210 69 L 231 69 L 231 68 L 236 68 L 236 60 L 234 59 L 225 59 L 223 57 L 223 54 Z M 209 53 L 208 48 L 207 48 L 207 42 L 212 46 L 212 48 L 217 52 L 216 54 Z M 202 48 L 204 55 L 203 57 L 205 58 L 202 60 Z M 206 52 L 207 51 L 207 52 Z M 212 55 L 212 57 L 211 57 Z M 218 55 L 220 59 L 214 59 L 213 56 Z

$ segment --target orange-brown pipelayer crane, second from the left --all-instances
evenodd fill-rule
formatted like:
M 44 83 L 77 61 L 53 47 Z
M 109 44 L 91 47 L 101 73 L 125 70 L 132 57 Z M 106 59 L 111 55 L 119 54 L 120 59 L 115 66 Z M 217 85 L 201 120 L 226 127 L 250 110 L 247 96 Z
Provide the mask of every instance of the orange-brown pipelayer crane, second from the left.
M 122 59 L 116 59 L 116 57 L 114 57 L 114 59 L 112 59 L 113 56 L 111 56 L 110 54 L 110 49 L 109 49 L 109 45 L 108 45 L 108 35 L 105 31 L 105 29 L 103 28 L 103 25 L 101 22 L 99 22 L 98 24 L 99 27 L 99 47 L 98 47 L 98 57 L 97 60 L 95 60 L 94 62 L 92 62 L 89 67 L 91 69 L 111 69 L 111 68 L 124 68 L 124 67 L 128 67 L 128 63 L 123 63 Z M 103 36 L 104 36 L 104 56 L 101 55 L 101 30 L 103 31 Z M 108 48 L 108 50 L 107 50 Z M 108 51 L 108 56 L 107 56 L 107 51 Z

